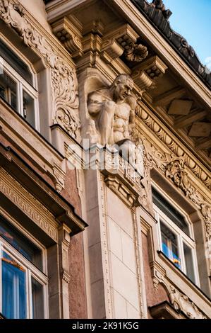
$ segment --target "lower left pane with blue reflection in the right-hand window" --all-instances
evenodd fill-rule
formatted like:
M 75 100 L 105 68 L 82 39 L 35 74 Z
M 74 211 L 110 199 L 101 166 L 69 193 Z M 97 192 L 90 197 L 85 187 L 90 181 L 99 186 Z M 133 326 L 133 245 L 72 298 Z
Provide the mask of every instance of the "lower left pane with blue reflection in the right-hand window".
M 179 258 L 177 237 L 163 222 L 160 223 L 162 237 L 162 252 L 181 269 L 181 259 Z

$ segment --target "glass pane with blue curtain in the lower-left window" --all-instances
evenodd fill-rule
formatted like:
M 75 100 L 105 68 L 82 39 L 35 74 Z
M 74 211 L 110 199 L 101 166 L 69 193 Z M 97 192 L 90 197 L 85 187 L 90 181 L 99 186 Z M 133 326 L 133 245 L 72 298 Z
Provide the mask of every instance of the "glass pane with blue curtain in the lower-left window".
M 2 313 L 6 318 L 25 319 L 25 269 L 6 252 L 2 261 Z

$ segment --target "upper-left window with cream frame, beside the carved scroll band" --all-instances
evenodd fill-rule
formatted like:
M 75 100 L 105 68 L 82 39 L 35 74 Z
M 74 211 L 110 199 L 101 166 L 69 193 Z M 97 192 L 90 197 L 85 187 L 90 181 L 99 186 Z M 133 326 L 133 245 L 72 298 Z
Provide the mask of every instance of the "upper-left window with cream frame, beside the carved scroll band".
M 1 40 L 0 97 L 40 130 L 35 78 L 28 66 Z

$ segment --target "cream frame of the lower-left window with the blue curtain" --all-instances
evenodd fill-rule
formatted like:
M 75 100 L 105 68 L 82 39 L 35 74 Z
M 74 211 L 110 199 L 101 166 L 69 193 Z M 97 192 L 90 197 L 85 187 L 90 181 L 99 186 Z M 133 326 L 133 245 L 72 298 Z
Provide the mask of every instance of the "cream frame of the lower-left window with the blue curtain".
M 43 271 L 40 271 L 31 261 L 25 258 L 23 254 L 20 254 L 17 249 L 15 249 L 11 244 L 9 244 L 6 239 L 0 236 L 0 312 L 2 312 L 2 265 L 1 259 L 3 252 L 6 252 L 9 256 L 11 256 L 18 264 L 23 266 L 25 269 L 25 278 L 26 278 L 26 306 L 27 306 L 27 315 L 26 319 L 32 319 L 32 277 L 35 278 L 36 281 L 42 284 L 43 286 L 43 302 L 44 302 L 44 319 L 49 317 L 49 309 L 48 309 L 48 277 L 47 277 L 47 259 L 46 259 L 46 249 L 41 247 L 39 242 L 36 242 L 35 239 L 29 237 L 28 232 L 23 232 L 23 228 L 20 229 L 16 223 L 11 222 L 11 219 L 8 219 L 8 216 L 2 214 L 1 215 L 9 222 L 11 225 L 16 227 L 18 232 L 21 232 L 23 235 L 29 238 L 30 242 L 33 242 L 36 247 L 38 247 L 42 251 L 42 261 L 43 261 Z

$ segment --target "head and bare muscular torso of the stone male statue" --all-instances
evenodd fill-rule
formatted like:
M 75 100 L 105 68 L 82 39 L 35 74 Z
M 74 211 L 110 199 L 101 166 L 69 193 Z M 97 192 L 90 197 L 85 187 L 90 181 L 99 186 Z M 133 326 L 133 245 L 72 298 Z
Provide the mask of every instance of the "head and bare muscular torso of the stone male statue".
M 116 77 L 108 89 L 98 89 L 88 96 L 90 123 L 97 142 L 102 145 L 119 144 L 131 140 L 136 101 L 131 96 L 133 80 L 126 74 Z

